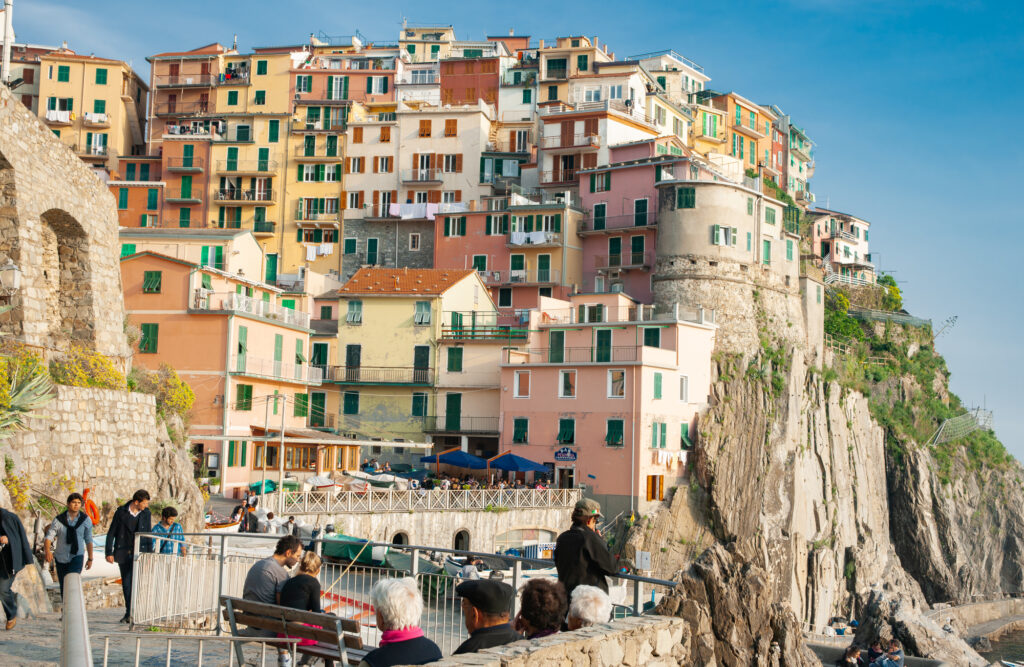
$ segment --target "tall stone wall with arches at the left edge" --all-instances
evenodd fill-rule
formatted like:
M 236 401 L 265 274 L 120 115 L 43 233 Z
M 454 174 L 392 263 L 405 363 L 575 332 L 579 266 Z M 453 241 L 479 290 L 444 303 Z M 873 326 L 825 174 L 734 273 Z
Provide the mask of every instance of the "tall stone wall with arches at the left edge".
M 45 350 L 83 343 L 127 370 L 119 245 L 108 189 L 0 87 L 0 264 L 23 274 L 0 327 Z

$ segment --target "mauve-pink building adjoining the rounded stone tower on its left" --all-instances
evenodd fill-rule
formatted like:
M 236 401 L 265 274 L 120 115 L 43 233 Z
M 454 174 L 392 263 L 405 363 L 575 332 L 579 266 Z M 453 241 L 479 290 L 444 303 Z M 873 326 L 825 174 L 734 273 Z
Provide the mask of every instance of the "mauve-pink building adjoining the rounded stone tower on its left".
M 624 292 L 641 303 L 652 298 L 657 243 L 657 191 L 668 178 L 689 178 L 689 152 L 672 136 L 609 148 L 611 162 L 579 172 L 583 292 Z

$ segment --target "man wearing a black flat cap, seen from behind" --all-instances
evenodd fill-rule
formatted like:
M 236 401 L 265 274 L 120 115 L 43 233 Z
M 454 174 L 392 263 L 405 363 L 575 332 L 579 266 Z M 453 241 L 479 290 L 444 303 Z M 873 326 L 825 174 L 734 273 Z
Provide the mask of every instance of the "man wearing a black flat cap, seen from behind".
M 455 650 L 457 654 L 522 639 L 509 622 L 515 597 L 511 586 L 492 579 L 471 579 L 456 586 L 455 592 L 462 596 L 462 618 L 469 630 L 469 638 Z

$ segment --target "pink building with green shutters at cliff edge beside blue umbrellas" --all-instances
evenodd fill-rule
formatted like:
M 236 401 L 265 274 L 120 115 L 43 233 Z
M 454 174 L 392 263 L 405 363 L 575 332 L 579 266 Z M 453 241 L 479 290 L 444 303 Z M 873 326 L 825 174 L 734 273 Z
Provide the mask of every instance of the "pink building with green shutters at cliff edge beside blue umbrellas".
M 502 360 L 501 450 L 585 486 L 609 516 L 646 511 L 688 474 L 713 320 L 624 294 L 542 298 L 528 344 Z

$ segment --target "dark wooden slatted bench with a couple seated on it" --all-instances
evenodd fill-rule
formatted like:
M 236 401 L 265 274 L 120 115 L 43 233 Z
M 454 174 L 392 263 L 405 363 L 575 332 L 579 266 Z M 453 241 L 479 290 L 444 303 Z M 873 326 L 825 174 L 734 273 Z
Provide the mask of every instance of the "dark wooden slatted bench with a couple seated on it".
M 362 648 L 359 622 L 338 618 L 333 614 L 303 612 L 290 607 L 255 602 L 241 597 L 220 598 L 224 620 L 231 626 L 231 636 L 245 636 L 239 632 L 244 625 L 257 630 L 267 630 L 287 637 L 312 639 L 315 644 L 296 647 L 296 653 L 322 658 L 327 667 L 335 661 L 344 666 L 358 665 L 368 651 Z M 242 644 L 234 644 L 240 665 L 245 664 Z

